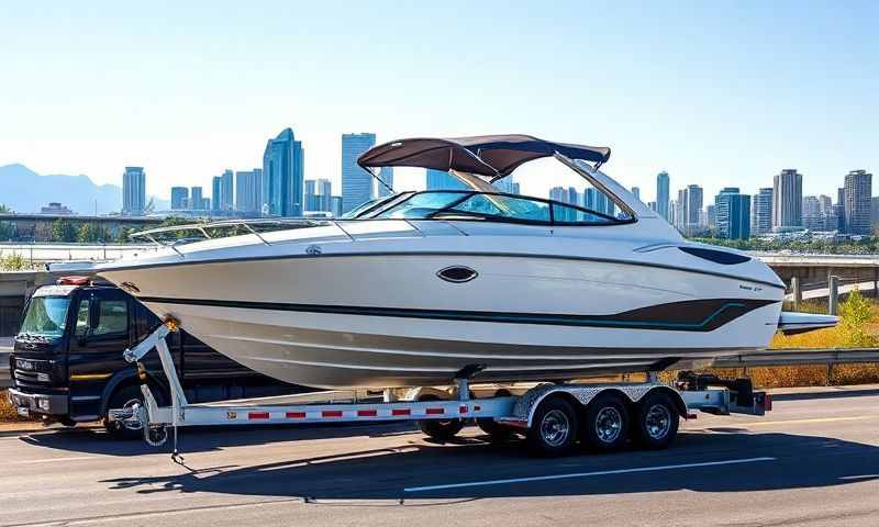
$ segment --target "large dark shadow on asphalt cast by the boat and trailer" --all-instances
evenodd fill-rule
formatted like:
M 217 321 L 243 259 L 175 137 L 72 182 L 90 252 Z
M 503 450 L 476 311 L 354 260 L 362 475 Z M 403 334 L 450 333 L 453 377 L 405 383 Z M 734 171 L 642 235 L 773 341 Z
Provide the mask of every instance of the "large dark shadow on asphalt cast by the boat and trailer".
M 387 441 L 386 441 L 387 442 Z M 527 458 L 518 441 L 489 445 L 398 445 L 376 450 L 297 458 L 283 455 L 249 467 L 196 468 L 179 475 L 103 480 L 110 490 L 320 500 L 478 498 L 505 496 L 601 495 L 690 490 L 753 492 L 824 487 L 879 479 L 879 448 L 857 442 L 788 434 L 682 433 L 665 451 Z M 774 460 L 717 467 L 669 468 L 682 463 L 769 457 Z M 537 482 L 490 484 L 419 492 L 413 486 L 485 480 L 664 467 L 650 472 L 594 474 Z

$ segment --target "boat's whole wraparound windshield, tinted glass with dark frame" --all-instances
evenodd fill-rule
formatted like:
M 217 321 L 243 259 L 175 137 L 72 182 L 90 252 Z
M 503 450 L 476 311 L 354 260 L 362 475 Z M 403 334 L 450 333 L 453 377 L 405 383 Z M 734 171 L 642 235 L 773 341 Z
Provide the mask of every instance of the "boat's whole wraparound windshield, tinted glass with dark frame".
M 424 191 L 404 199 L 372 203 L 357 216 L 398 220 L 475 220 L 538 224 L 610 225 L 630 223 L 632 216 L 616 216 L 553 200 L 518 194 L 476 191 Z

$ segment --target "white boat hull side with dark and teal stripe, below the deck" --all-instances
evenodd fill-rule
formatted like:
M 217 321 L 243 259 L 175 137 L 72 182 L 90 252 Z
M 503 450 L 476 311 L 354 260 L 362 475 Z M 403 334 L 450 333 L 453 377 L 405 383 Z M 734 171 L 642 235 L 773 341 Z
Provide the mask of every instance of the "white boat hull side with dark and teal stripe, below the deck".
M 236 361 L 315 388 L 445 384 L 471 365 L 494 381 L 664 369 L 763 348 L 778 324 L 783 291 L 759 280 L 485 245 L 482 255 L 324 253 L 102 276 Z M 441 280 L 449 266 L 478 277 Z

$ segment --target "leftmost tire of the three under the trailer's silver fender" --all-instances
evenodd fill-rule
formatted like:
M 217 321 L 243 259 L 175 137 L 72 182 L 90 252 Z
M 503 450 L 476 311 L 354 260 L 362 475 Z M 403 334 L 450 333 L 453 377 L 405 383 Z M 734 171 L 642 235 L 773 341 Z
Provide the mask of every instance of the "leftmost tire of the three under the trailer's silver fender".
M 577 444 L 579 418 L 574 406 L 560 396 L 544 400 L 534 411 L 526 441 L 534 456 L 555 457 L 570 452 Z

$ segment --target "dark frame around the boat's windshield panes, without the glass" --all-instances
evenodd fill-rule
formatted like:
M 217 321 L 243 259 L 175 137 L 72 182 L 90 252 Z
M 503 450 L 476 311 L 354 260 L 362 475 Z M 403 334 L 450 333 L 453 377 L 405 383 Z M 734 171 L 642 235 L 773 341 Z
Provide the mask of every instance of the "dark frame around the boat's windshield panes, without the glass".
M 402 205 L 413 198 L 418 195 L 424 194 L 460 194 L 459 199 L 452 200 L 445 205 L 436 209 L 435 211 L 425 214 L 422 217 L 379 217 L 381 214 L 390 212 Z M 487 197 L 499 197 L 499 198 L 507 198 L 513 200 L 521 200 L 523 202 L 536 202 L 543 203 L 546 205 L 548 220 L 534 220 L 534 218 L 525 218 L 525 217 L 515 217 L 515 216 L 503 216 L 497 214 L 489 214 L 489 213 L 480 213 L 480 212 L 468 212 L 468 211 L 460 211 L 455 210 L 456 206 L 460 205 L 461 203 L 466 202 L 467 200 L 476 197 L 476 195 L 487 195 Z M 413 220 L 413 221 L 476 221 L 476 222 L 490 222 L 490 223 L 516 223 L 516 224 L 526 224 L 526 225 L 558 225 L 558 226 L 611 226 L 611 225 L 626 225 L 631 223 L 637 222 L 637 218 L 634 214 L 631 214 L 628 211 L 622 210 L 623 213 L 627 214 L 628 217 L 614 217 L 610 214 L 604 214 L 598 211 L 593 211 L 591 209 L 587 209 L 585 206 L 575 205 L 571 203 L 565 203 L 557 200 L 549 200 L 544 198 L 535 198 L 524 194 L 513 194 L 509 192 L 485 192 L 479 190 L 421 190 L 421 191 L 407 191 L 401 192 L 399 194 L 394 194 L 397 199 L 390 200 L 381 200 L 378 203 L 375 203 L 372 206 L 361 211 L 354 217 L 347 217 L 345 220 L 348 221 L 374 221 L 374 220 Z M 556 208 L 564 208 L 567 210 L 572 210 L 583 215 L 591 215 L 594 217 L 600 217 L 602 221 L 565 221 L 565 220 L 557 220 L 555 209 Z

